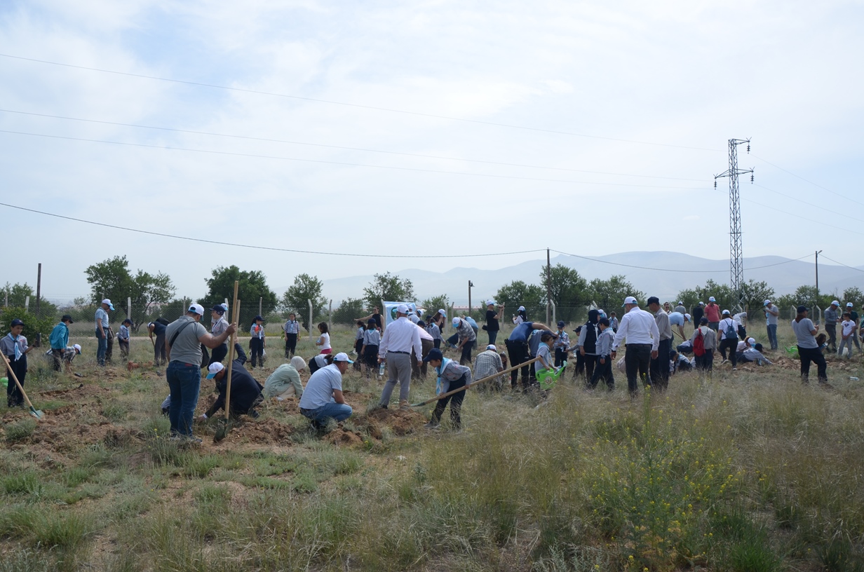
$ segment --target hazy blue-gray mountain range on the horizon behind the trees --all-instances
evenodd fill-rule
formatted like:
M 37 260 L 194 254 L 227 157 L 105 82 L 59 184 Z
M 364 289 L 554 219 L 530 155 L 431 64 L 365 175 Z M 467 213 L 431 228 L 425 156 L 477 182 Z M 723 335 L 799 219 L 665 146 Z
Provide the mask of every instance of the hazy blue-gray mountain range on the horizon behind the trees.
M 552 265 L 564 264 L 575 269 L 588 280 L 606 279 L 613 274 L 626 276 L 633 286 L 646 296 L 671 300 L 682 289 L 704 284 L 708 279 L 716 283 L 729 282 L 729 261 L 694 257 L 680 252 L 620 252 L 592 259 L 558 255 Z M 498 289 L 514 280 L 541 283 L 540 270 L 545 260 L 532 260 L 499 270 L 454 268 L 446 272 L 406 269 L 393 272 L 408 278 L 420 300 L 447 294 L 456 304 L 467 303 L 467 284 L 474 284 L 472 302 L 495 295 Z M 816 279 L 814 262 L 791 260 L 785 257 L 753 257 L 744 259 L 744 279 L 753 278 L 768 283 L 777 295 L 790 294 L 802 284 L 813 284 Z M 372 275 L 347 276 L 324 280 L 324 296 L 333 299 L 334 307 L 345 298 L 363 296 L 363 289 L 372 282 Z M 864 289 L 864 267 L 856 269 L 836 264 L 819 264 L 819 290 L 842 293 L 843 289 L 857 286 Z M 276 289 L 283 292 L 288 287 Z M 482 302 L 480 302 L 482 303 Z

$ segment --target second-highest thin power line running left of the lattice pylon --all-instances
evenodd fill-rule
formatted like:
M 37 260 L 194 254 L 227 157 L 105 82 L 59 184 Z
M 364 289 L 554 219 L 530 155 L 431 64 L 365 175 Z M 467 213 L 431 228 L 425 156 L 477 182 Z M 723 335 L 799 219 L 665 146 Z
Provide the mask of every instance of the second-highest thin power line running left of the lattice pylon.
M 475 162 L 484 165 L 500 165 L 505 167 L 522 167 L 522 168 L 540 168 L 540 169 L 548 169 L 554 171 L 569 171 L 572 173 L 590 173 L 592 175 L 614 175 L 621 177 L 640 177 L 645 179 L 665 179 L 670 181 L 702 181 L 702 179 L 685 179 L 681 177 L 661 177 L 657 175 L 629 175 L 626 173 L 609 173 L 607 171 L 589 171 L 581 168 L 563 168 L 563 167 L 543 167 L 542 165 L 526 165 L 522 163 L 511 163 L 511 162 L 497 162 L 497 161 L 481 161 L 479 159 L 464 159 L 461 157 L 448 157 L 448 156 L 436 156 L 436 155 L 423 155 L 420 153 L 403 153 L 400 151 L 388 151 L 382 149 L 364 149 L 362 147 L 344 147 L 340 145 L 327 145 L 323 143 L 306 143 L 302 141 L 289 141 L 285 139 L 270 139 L 267 137 L 249 137 L 244 135 L 231 135 L 226 133 L 213 133 L 211 131 L 196 131 L 196 130 L 186 130 L 186 129 L 176 129 L 173 127 L 155 127 L 152 125 L 140 125 L 140 124 L 125 124 L 118 123 L 115 121 L 101 121 L 98 119 L 83 119 L 83 118 L 70 118 L 62 115 L 49 115 L 48 113 L 33 113 L 30 111 L 15 111 L 10 109 L 0 109 L 5 113 L 16 113 L 19 115 L 29 115 L 38 118 L 54 118 L 54 119 L 66 119 L 68 121 L 81 121 L 85 123 L 92 124 L 104 124 L 104 125 L 117 125 L 119 127 L 134 127 L 137 129 L 151 129 L 151 130 L 162 130 L 162 131 L 171 131 L 174 133 L 189 133 L 192 135 L 206 135 L 210 137 L 231 137 L 233 139 L 245 139 L 247 141 L 262 141 L 265 143 L 289 143 L 292 145 L 307 145 L 309 147 L 323 147 L 326 149 L 342 149 L 347 151 L 363 151 L 365 153 L 384 153 L 387 155 L 399 155 L 399 156 L 409 156 L 409 157 L 421 157 L 423 159 L 443 159 L 445 161 L 462 161 L 462 162 Z

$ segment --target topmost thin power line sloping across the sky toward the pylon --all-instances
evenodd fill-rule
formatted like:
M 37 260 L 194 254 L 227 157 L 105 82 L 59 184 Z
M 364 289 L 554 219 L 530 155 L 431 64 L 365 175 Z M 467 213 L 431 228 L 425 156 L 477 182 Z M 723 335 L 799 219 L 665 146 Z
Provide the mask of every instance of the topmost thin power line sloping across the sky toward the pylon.
M 672 147 L 675 149 L 694 149 L 697 151 L 718 151 L 720 149 L 706 149 L 702 147 L 688 147 L 685 145 L 671 145 L 669 143 L 655 143 L 651 141 L 635 141 L 632 139 L 619 139 L 616 137 L 600 137 L 597 135 L 585 135 L 584 133 L 572 133 L 569 131 L 558 131 L 558 130 L 550 130 L 550 129 L 540 129 L 538 127 L 525 127 L 524 125 L 511 125 L 511 124 L 500 124 L 492 121 L 480 121 L 479 119 L 465 119 L 465 118 L 452 118 L 446 115 L 435 115 L 433 113 L 422 113 L 420 111 L 405 111 L 400 109 L 391 109 L 389 107 L 377 107 L 374 105 L 360 105 L 360 104 L 351 104 L 346 103 L 344 101 L 333 101 L 330 99 L 316 99 L 316 98 L 304 98 L 299 95 L 288 95 L 285 93 L 276 93 L 276 92 L 262 92 L 253 89 L 244 89 L 242 87 L 230 87 L 230 86 L 218 86 L 215 84 L 206 84 L 199 81 L 188 81 L 185 79 L 170 79 L 170 78 L 160 78 L 153 75 L 145 75 L 143 73 L 129 73 L 129 72 L 117 72 L 110 69 L 101 69 L 98 67 L 86 67 L 86 66 L 75 66 L 73 64 L 64 64 L 57 61 L 48 61 L 48 60 L 36 60 L 35 58 L 25 58 L 19 55 L 11 55 L 11 54 L 0 54 L 4 58 L 11 58 L 14 60 L 24 60 L 24 61 L 33 61 L 35 63 L 48 64 L 51 66 L 60 66 L 60 67 L 71 67 L 73 69 L 84 69 L 91 72 L 100 72 L 100 73 L 114 73 L 116 75 L 124 75 L 132 78 L 142 78 L 142 79 L 156 79 L 157 81 L 168 81 L 176 84 L 184 84 L 187 86 L 199 86 L 199 87 L 210 87 L 213 89 L 221 89 L 230 92 L 243 92 L 243 93 L 255 93 L 257 95 L 268 95 L 276 98 L 286 98 L 286 99 L 299 99 L 302 101 L 314 101 L 315 103 L 329 104 L 329 105 L 344 105 L 346 107 L 357 107 L 360 109 L 369 109 L 374 111 L 388 111 L 391 113 L 403 113 L 405 115 L 415 115 L 422 118 L 435 118 L 435 119 L 447 119 L 449 121 L 461 121 L 464 123 L 471 124 L 480 124 L 480 125 L 492 125 L 494 127 L 506 127 L 508 129 L 518 129 L 518 130 L 528 130 L 528 131 L 538 131 L 541 133 L 554 133 L 556 135 L 569 135 L 573 137 L 587 137 L 590 139 L 602 139 L 604 141 L 618 141 L 619 143 L 638 143 L 640 145 L 654 145 L 658 147 Z

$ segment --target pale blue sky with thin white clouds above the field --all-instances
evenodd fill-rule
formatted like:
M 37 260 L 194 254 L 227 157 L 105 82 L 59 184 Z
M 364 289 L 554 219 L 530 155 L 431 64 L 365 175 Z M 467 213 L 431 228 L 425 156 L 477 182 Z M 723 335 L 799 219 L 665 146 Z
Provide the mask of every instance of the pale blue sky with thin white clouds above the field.
M 0 202 L 31 211 L 0 206 L 0 283 L 41 263 L 71 300 L 115 256 L 191 297 L 231 264 L 281 294 L 548 247 L 728 259 L 715 175 L 750 137 L 745 257 L 861 265 L 862 23 L 831 1 L 7 0 Z

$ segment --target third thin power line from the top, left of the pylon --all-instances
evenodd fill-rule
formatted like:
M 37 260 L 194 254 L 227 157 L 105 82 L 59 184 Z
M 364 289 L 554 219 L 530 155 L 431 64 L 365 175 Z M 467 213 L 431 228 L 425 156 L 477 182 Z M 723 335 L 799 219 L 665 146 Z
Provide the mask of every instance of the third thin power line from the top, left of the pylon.
M 460 171 L 445 171 L 434 168 L 413 168 L 413 167 L 391 167 L 387 165 L 369 165 L 356 162 L 340 162 L 340 161 L 323 161 L 321 159 L 300 159 L 297 157 L 282 157 L 270 155 L 257 155 L 254 153 L 234 153 L 232 151 L 215 151 L 211 149 L 191 149 L 188 147 L 167 147 L 163 145 L 150 145 L 148 143 L 126 143 L 123 141 L 107 141 L 105 139 L 88 139 L 85 137 L 68 137 L 65 135 L 46 135 L 44 133 L 29 133 L 27 131 L 0 130 L 0 133 L 10 133 L 12 135 L 25 135 L 29 137 L 47 137 L 49 139 L 64 139 L 67 141 L 85 141 L 87 143 L 106 143 L 110 145 L 124 145 L 126 147 L 144 147 L 147 149 L 162 149 L 166 151 L 187 151 L 189 153 L 205 153 L 210 155 L 224 155 L 247 157 L 254 159 L 272 159 L 276 161 L 297 161 L 297 162 L 314 162 L 323 163 L 326 165 L 342 165 L 345 167 L 367 167 L 367 168 L 386 168 L 397 171 L 415 171 L 417 173 L 439 173 L 442 175 L 462 175 L 471 177 L 488 177 L 492 179 L 514 179 L 516 181 L 544 181 L 544 182 L 566 182 L 578 185 L 603 185 L 607 187 L 642 187 L 642 188 L 667 188 L 667 189 L 683 189 L 683 190 L 699 190 L 702 187 L 667 187 L 665 185 L 633 185 L 624 182 L 594 182 L 594 181 L 569 181 L 566 179 L 542 179 L 537 177 L 520 177 L 516 175 L 490 175 L 487 173 L 465 173 Z

